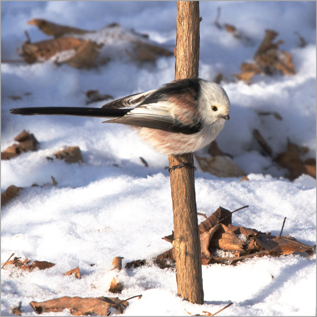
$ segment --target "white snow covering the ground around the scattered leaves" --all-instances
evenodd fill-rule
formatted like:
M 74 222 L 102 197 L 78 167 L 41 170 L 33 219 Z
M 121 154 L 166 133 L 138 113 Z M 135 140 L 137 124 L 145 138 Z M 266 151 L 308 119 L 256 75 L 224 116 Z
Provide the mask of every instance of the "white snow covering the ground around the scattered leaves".
M 243 45 L 213 21 L 221 6 L 220 23 L 236 26 L 254 45 Z M 278 235 L 287 217 L 284 234 L 298 241 L 316 243 L 316 182 L 302 175 L 293 182 L 281 177 L 285 170 L 271 166 L 252 136 L 258 129 L 274 154 L 286 150 L 287 138 L 308 146 L 303 157 L 316 157 L 316 3 L 315 2 L 200 2 L 199 76 L 222 85 L 230 102 L 230 121 L 217 142 L 223 152 L 248 174 L 218 178 L 197 169 L 197 211 L 209 216 L 219 205 L 235 210 L 233 224 L 271 231 Z M 78 27 L 101 29 L 117 22 L 127 29 L 149 34 L 173 50 L 176 35 L 175 2 L 2 2 L 2 59 L 17 59 L 28 30 L 32 41 L 44 40 L 33 18 Z M 251 61 L 265 29 L 279 32 L 281 49 L 293 56 L 296 74 L 272 77 L 255 75 L 252 84 L 233 82 L 242 62 Z M 294 31 L 307 42 L 299 47 Z M 83 107 L 83 92 L 98 89 L 120 98 L 155 89 L 174 79 L 174 57 L 162 57 L 155 65 L 136 65 L 114 60 L 106 66 L 78 70 L 51 62 L 1 65 L 1 149 L 13 143 L 23 129 L 34 133 L 41 148 L 1 162 L 1 191 L 14 184 L 24 187 L 16 199 L 2 208 L 1 262 L 11 253 L 56 265 L 46 270 L 21 272 L 9 266 L 1 271 L 1 314 L 22 301 L 23 315 L 36 315 L 30 301 L 61 296 L 98 297 L 108 292 L 115 276 L 123 283 L 121 299 L 129 301 L 125 315 L 188 315 L 215 313 L 230 301 L 234 304 L 219 315 L 298 315 L 316 313 L 316 256 L 294 254 L 264 256 L 237 266 L 203 266 L 204 305 L 177 296 L 175 273 L 155 265 L 111 271 L 115 256 L 126 262 L 152 259 L 170 249 L 162 240 L 173 229 L 167 157 L 156 153 L 126 126 L 102 124 L 101 119 L 63 116 L 14 116 L 17 107 Z M 25 93 L 31 92 L 30 95 Z M 21 96 L 11 100 L 9 96 Z M 94 107 L 101 107 L 97 102 Z M 259 116 L 259 111 L 278 112 L 283 120 Z M 84 163 L 48 161 L 65 146 L 80 147 Z M 145 167 L 139 157 L 144 158 Z M 118 166 L 115 166 L 118 165 Z M 31 187 L 51 183 L 57 186 Z M 198 216 L 198 221 L 204 218 Z M 90 264 L 94 263 L 94 266 Z M 61 273 L 79 266 L 81 279 Z M 272 278 L 272 276 L 274 278 Z M 50 313 L 50 315 L 70 315 Z

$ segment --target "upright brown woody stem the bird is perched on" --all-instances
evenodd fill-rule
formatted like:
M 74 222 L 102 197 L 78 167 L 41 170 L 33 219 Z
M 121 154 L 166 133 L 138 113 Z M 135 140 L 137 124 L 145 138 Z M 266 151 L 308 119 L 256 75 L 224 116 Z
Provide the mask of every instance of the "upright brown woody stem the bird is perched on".
M 198 77 L 199 2 L 177 1 L 175 79 Z M 192 153 L 178 155 L 193 163 Z M 179 162 L 171 155 L 169 166 Z M 176 280 L 178 295 L 192 303 L 204 303 L 200 239 L 195 197 L 194 171 L 174 169 L 170 174 L 173 203 Z

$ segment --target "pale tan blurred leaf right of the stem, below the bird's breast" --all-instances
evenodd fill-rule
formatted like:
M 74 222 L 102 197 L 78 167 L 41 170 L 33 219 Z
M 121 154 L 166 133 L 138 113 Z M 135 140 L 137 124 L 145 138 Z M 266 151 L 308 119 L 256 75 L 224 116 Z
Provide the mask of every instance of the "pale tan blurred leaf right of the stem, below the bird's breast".
M 194 154 L 199 167 L 204 172 L 209 172 L 218 177 L 241 177 L 247 174 L 229 156 L 217 155 L 210 157 L 199 157 Z

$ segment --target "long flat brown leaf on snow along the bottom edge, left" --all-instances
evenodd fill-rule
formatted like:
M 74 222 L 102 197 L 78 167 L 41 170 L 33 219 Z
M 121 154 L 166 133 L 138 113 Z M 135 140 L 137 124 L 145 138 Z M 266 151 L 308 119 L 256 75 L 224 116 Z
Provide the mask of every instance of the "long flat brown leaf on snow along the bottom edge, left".
M 118 309 L 122 314 L 124 309 L 129 305 L 128 300 L 134 297 L 141 298 L 142 295 L 130 297 L 126 300 L 120 300 L 118 297 L 60 297 L 49 301 L 36 302 L 31 301 L 30 305 L 38 314 L 46 312 L 61 312 L 68 308 L 73 316 L 85 316 L 97 314 L 107 316 L 110 307 Z

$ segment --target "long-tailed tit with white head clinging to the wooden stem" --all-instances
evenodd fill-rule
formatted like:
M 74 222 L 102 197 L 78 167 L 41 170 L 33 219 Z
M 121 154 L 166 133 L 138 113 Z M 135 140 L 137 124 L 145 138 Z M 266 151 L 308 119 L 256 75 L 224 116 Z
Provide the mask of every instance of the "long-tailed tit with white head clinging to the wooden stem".
M 10 112 L 113 118 L 104 122 L 130 125 L 158 152 L 177 155 L 197 151 L 213 141 L 229 120 L 229 109 L 229 98 L 221 86 L 194 78 L 172 81 L 101 108 L 32 107 Z

